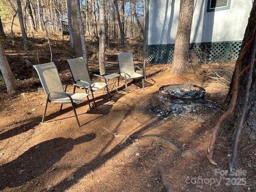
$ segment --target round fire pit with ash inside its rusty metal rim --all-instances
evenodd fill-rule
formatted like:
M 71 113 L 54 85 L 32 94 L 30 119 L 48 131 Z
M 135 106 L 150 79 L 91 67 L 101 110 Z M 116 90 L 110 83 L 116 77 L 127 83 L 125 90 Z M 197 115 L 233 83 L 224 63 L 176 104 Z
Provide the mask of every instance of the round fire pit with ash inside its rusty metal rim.
M 204 100 L 205 89 L 193 84 L 170 84 L 160 86 L 159 94 L 169 99 L 196 101 Z

